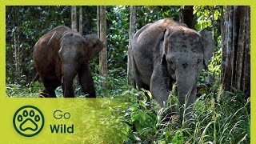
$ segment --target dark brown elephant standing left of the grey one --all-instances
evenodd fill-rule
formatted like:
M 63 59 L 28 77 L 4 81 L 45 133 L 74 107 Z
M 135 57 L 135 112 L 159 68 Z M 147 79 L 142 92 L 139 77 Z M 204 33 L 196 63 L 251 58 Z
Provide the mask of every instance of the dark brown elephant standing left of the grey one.
M 45 87 L 40 97 L 56 98 L 55 89 L 62 86 L 64 98 L 74 98 L 73 80 L 78 74 L 86 98 L 95 98 L 89 61 L 105 44 L 96 34 L 83 37 L 67 26 L 57 26 L 34 45 L 34 65 Z

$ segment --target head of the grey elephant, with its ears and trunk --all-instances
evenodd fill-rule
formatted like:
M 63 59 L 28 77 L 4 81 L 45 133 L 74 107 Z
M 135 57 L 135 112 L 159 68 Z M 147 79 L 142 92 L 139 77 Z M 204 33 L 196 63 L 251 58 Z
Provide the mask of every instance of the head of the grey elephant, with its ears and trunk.
M 186 103 L 188 114 L 195 102 L 198 75 L 208 65 L 214 40 L 205 29 L 196 32 L 182 25 L 168 27 L 163 37 L 161 65 L 177 83 L 178 101 Z

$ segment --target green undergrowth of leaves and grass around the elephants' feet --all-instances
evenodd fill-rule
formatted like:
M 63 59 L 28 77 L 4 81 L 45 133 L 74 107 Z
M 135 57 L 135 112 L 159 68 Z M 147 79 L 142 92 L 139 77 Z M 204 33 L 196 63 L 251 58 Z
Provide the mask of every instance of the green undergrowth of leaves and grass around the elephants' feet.
M 94 74 L 94 82 L 98 98 L 113 98 L 115 102 L 114 105 L 106 106 L 110 110 L 110 119 L 102 119 L 102 122 L 107 121 L 104 125 L 109 127 L 108 132 L 118 139 L 111 142 L 250 143 L 250 98 L 243 98 L 241 91 L 223 92 L 217 83 L 198 94 L 191 118 L 166 125 L 162 113 L 166 107 L 159 107 L 153 98 L 150 101 L 152 108 L 146 108 L 149 103 L 146 102 L 145 93 L 150 95 L 149 91 L 144 90 L 144 93 L 127 86 L 124 78 L 102 78 Z M 108 83 L 106 89 L 102 89 L 102 82 Z M 42 89 L 41 82 L 34 83 L 30 88 L 7 85 L 6 97 L 34 98 L 38 97 Z M 56 93 L 62 97 L 61 87 Z M 83 95 L 79 86 L 74 93 Z M 142 95 L 142 100 L 138 100 L 139 95 Z

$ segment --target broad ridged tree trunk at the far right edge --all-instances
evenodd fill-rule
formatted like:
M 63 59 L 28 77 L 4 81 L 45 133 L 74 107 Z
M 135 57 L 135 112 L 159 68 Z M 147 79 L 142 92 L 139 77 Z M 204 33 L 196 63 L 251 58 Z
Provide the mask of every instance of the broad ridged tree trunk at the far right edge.
M 224 14 L 222 12 L 222 14 Z M 250 96 L 250 6 L 226 6 L 222 15 L 222 85 Z

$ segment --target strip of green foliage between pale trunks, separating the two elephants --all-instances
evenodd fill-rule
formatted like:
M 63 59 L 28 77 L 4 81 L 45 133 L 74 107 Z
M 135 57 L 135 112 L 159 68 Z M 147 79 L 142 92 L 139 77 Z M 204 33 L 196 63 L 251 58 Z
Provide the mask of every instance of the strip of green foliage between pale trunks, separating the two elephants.
M 129 6 L 109 6 L 107 9 L 108 67 L 114 78 L 126 75 L 129 10 Z

